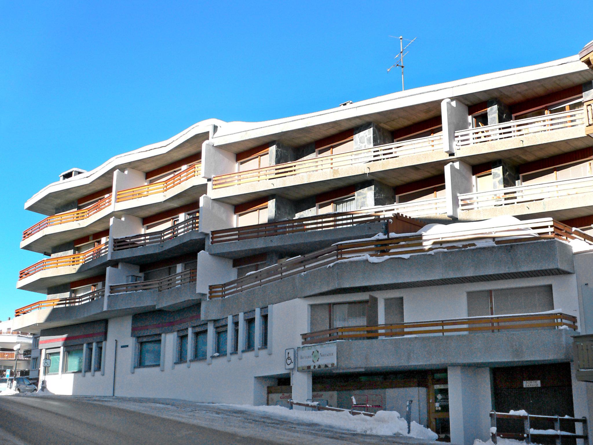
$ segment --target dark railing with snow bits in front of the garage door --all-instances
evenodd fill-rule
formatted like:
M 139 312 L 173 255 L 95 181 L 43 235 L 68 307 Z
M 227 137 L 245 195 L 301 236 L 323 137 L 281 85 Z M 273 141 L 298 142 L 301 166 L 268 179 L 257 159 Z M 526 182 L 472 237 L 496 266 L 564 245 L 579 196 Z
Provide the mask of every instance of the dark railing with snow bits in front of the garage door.
M 519 429 L 522 429 L 522 433 L 511 433 L 506 432 L 503 433 L 499 431 L 500 426 L 497 424 L 496 419 L 505 419 L 506 426 L 508 427 L 510 421 L 517 421 L 516 424 L 522 423 Z M 538 423 L 542 422 L 553 422 L 554 429 L 553 430 L 540 430 L 531 427 L 531 422 L 537 421 Z M 571 429 L 575 429 L 576 424 L 582 424 L 582 434 L 572 433 L 570 431 L 562 431 L 560 429 L 561 423 L 562 425 L 570 424 Z M 561 445 L 562 439 L 583 439 L 585 444 L 588 444 L 588 435 L 587 435 L 587 418 L 576 418 L 576 417 L 569 417 L 569 416 L 543 416 L 543 415 L 533 415 L 528 414 L 509 414 L 506 412 L 496 412 L 490 411 L 490 438 L 492 439 L 492 443 L 496 444 L 498 437 L 502 437 L 503 439 L 517 439 L 519 441 L 524 441 L 525 443 L 531 443 L 531 438 L 536 437 L 537 440 L 542 440 L 546 438 L 554 438 L 556 439 L 556 444 Z M 573 443 L 573 442 L 571 442 Z

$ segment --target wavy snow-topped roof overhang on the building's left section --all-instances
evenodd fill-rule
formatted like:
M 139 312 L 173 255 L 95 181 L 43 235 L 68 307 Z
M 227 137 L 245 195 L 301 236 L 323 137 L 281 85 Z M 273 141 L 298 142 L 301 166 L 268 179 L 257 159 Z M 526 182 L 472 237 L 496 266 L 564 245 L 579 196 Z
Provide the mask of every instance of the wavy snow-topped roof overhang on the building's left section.
M 218 119 L 203 120 L 166 141 L 116 155 L 93 170 L 47 185 L 25 202 L 25 209 L 53 215 L 62 205 L 111 187 L 115 170 L 150 171 L 201 151 L 202 143 L 213 136 L 215 127 L 224 125 Z

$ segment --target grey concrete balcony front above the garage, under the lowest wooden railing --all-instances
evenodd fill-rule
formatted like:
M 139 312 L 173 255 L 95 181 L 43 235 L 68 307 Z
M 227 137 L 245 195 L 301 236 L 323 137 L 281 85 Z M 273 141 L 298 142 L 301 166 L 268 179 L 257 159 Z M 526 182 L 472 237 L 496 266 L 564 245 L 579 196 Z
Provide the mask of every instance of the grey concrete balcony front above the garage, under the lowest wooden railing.
M 337 367 L 314 373 L 518 366 L 573 360 L 568 329 L 337 341 Z

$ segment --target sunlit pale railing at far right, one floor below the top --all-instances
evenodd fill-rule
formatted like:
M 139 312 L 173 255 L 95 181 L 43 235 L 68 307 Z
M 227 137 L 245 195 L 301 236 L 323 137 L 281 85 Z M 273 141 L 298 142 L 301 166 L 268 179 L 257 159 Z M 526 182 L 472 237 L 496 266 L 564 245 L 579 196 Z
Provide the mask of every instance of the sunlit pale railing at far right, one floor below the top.
M 459 196 L 461 210 L 523 204 L 549 198 L 565 198 L 570 195 L 593 192 L 593 176 L 542 184 L 504 187 L 486 192 L 463 193 Z

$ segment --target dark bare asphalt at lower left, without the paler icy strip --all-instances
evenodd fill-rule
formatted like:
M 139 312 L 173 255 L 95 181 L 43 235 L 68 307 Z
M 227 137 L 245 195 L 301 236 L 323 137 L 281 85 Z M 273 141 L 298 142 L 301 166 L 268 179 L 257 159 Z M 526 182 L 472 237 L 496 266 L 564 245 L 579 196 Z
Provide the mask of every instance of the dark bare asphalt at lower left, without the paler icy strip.
M 2 445 L 276 444 L 80 399 L 0 397 Z

